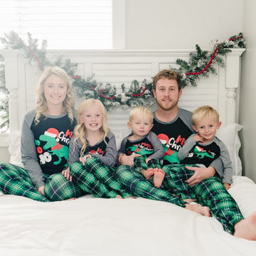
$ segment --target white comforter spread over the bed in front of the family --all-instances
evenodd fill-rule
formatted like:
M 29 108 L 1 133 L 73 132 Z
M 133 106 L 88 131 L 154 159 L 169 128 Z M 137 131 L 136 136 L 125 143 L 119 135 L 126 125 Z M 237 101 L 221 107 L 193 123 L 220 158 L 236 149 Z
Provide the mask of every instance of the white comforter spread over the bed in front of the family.
M 230 193 L 247 217 L 256 185 L 235 176 Z M 256 255 L 256 241 L 235 238 L 207 218 L 171 203 L 84 196 L 40 203 L 0 196 L 0 255 Z

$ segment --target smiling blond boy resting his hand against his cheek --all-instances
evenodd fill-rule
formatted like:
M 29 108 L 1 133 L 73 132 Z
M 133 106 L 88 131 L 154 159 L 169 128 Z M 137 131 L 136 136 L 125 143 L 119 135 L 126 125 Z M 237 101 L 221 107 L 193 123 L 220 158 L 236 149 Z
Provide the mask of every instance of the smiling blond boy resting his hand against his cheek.
M 223 162 L 222 181 L 226 189 L 232 183 L 232 162 L 228 154 L 228 149 L 223 142 L 215 137 L 216 130 L 220 128 L 218 112 L 210 106 L 198 107 L 192 114 L 193 129 L 196 134 L 192 134 L 185 144 L 178 151 L 178 159 L 181 166 L 172 168 L 172 189 L 182 198 L 195 198 L 190 188 L 184 181 L 193 175 L 185 166 L 196 165 L 198 167 L 208 167 L 210 163 L 218 157 Z M 183 168 L 184 167 L 184 168 Z

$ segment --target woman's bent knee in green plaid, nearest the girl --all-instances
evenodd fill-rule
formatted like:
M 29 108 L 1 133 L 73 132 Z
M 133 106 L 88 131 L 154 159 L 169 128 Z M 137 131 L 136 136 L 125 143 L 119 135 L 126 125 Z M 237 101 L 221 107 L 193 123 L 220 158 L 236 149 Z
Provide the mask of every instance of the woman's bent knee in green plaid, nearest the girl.
M 63 174 L 49 176 L 44 191 L 50 201 L 63 201 L 82 196 L 82 190 L 78 184 L 67 181 Z

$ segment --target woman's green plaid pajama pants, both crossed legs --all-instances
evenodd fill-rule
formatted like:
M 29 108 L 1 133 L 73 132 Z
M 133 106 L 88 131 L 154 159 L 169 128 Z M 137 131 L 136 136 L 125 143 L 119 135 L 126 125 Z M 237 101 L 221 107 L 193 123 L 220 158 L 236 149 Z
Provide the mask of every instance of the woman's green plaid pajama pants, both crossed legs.
M 44 174 L 43 178 L 46 196 L 33 186 L 31 177 L 23 168 L 0 163 L 0 190 L 4 194 L 25 196 L 42 202 L 62 201 L 82 195 L 80 188 L 74 182 L 67 181 L 62 174 Z

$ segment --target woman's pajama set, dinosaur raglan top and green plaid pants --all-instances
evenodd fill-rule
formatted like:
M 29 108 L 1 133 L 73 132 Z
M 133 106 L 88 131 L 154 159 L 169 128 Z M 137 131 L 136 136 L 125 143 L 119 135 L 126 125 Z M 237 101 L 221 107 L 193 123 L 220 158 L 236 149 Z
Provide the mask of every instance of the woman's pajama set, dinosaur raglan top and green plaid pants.
M 61 174 L 68 167 L 68 146 L 75 120 L 71 122 L 68 114 L 41 116 L 36 124 L 35 116 L 35 110 L 27 112 L 21 128 L 24 168 L 0 163 L 1 191 L 43 202 L 81 196 L 81 189 Z M 45 186 L 46 196 L 38 191 L 41 186 Z

